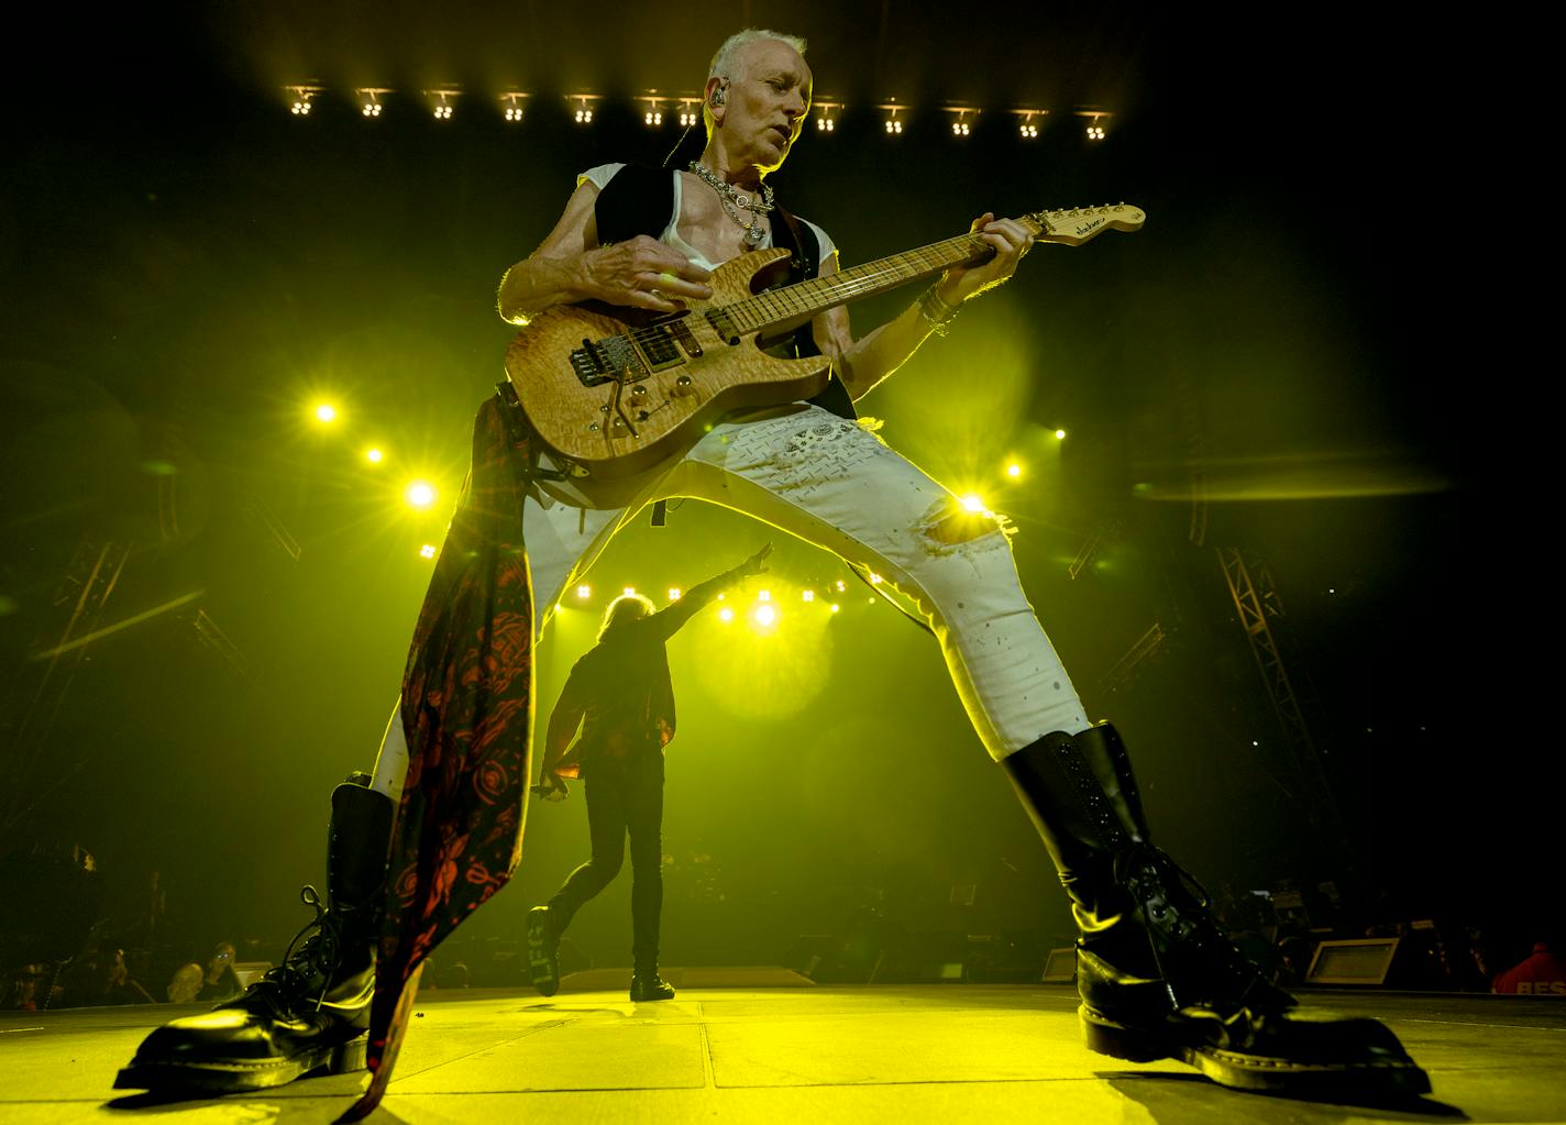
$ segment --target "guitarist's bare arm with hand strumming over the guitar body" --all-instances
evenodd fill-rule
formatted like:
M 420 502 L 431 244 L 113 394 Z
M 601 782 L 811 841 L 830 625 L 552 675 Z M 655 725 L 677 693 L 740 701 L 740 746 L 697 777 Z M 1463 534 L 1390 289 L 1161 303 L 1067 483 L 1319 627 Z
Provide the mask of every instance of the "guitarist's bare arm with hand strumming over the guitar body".
M 539 249 L 500 279 L 503 320 L 526 324 L 550 306 L 587 299 L 677 312 L 683 307 L 681 298 L 706 301 L 713 296 L 705 284 L 711 274 L 656 238 L 637 235 L 600 246 L 594 221 L 597 199 L 598 188 L 583 182 Z

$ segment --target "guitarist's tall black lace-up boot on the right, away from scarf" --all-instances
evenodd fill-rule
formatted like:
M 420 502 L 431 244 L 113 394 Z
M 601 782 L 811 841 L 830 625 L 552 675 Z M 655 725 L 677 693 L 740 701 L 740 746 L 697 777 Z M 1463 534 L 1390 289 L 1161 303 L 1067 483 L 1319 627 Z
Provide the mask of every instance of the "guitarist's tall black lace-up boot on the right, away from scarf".
M 1002 765 L 1071 896 L 1090 1050 L 1182 1059 L 1223 1086 L 1290 1097 L 1430 1091 L 1386 1026 L 1300 1009 L 1234 948 L 1196 881 L 1151 845 L 1112 725 L 1045 735 Z

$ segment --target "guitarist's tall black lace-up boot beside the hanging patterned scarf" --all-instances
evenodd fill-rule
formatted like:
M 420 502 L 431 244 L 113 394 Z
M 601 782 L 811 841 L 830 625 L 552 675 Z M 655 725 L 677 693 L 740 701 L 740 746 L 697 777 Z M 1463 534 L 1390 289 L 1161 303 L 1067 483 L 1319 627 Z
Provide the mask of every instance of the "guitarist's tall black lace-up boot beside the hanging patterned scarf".
M 316 917 L 290 943 L 283 964 L 238 1000 L 153 1031 L 114 1087 L 232 1094 L 316 1070 L 362 1070 L 395 812 L 385 794 L 363 783 L 338 785 L 326 907 L 305 887 L 301 898 Z

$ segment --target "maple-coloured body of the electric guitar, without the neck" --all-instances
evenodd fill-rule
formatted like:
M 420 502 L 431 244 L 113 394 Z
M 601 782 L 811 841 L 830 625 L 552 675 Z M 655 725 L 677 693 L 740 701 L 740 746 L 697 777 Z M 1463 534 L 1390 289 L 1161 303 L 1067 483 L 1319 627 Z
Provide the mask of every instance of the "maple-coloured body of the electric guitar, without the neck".
M 832 370 L 825 356 L 763 351 L 810 313 L 749 332 L 723 315 L 725 306 L 785 277 L 788 257 L 766 249 L 725 262 L 708 282 L 713 299 L 687 301 L 684 313 L 589 301 L 534 315 L 506 349 L 506 374 L 537 437 L 575 475 L 620 479 L 695 445 L 731 411 L 824 390 Z

